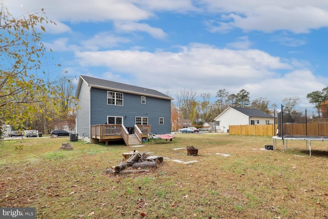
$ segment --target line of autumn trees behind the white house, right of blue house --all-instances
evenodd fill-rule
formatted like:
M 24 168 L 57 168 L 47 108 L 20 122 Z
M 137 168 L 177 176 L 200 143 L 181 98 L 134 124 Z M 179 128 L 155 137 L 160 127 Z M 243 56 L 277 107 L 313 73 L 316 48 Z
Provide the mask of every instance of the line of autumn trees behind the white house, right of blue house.
M 226 89 L 216 92 L 217 99 L 210 102 L 210 93 L 197 95 L 194 90 L 179 90 L 175 101 L 171 103 L 171 123 L 173 130 L 179 128 L 179 120 L 188 119 L 193 125 L 200 127 L 204 122 L 213 122 L 214 118 L 228 107 L 241 107 L 258 109 L 268 114 L 274 113 L 276 104 L 271 104 L 267 97 L 250 98 L 250 92 L 241 89 L 238 93 L 230 93 Z M 199 100 L 200 99 L 200 100 Z M 297 96 L 285 97 L 281 100 L 288 114 L 296 115 L 296 107 L 300 102 Z

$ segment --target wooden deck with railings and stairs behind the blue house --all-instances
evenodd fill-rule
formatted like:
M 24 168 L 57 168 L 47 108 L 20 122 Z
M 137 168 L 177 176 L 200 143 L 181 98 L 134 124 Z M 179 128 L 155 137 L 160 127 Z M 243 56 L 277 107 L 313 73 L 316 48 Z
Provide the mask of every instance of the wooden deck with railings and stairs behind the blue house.
M 142 139 L 148 138 L 151 132 L 150 125 L 134 125 L 134 132 L 129 133 L 124 125 L 99 124 L 91 126 L 91 138 L 98 139 L 99 142 L 115 141 L 123 139 L 127 146 L 141 144 Z

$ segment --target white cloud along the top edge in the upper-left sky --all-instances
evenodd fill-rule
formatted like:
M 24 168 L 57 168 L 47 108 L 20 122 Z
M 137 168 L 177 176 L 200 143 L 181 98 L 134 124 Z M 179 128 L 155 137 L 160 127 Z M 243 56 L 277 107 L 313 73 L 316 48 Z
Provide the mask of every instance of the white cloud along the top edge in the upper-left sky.
M 22 3 L 23 8 L 20 7 Z M 22 9 L 29 11 L 43 7 L 49 18 L 68 22 L 139 21 L 153 15 L 133 2 L 123 0 L 22 0 L 9 2 L 8 5 L 15 14 L 21 14 Z

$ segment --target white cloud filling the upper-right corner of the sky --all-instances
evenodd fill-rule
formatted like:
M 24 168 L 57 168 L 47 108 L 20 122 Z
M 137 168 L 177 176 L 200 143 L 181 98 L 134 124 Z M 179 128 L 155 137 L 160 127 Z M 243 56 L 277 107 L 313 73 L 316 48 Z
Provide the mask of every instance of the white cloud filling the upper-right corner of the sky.
M 328 3 L 323 1 L 204 2 L 208 4 L 208 10 L 222 13 L 220 21 L 209 23 L 211 31 L 226 32 L 240 28 L 244 31 L 308 33 L 311 29 L 328 26 Z

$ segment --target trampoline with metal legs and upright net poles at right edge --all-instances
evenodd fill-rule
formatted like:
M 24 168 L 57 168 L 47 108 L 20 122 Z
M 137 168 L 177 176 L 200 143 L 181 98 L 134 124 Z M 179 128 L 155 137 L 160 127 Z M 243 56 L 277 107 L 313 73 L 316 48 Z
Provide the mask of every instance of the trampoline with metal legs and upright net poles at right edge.
M 308 124 L 305 122 L 305 135 L 288 135 L 284 133 L 290 133 L 291 130 L 288 128 L 283 128 L 283 106 L 281 105 L 281 112 L 278 113 L 277 121 L 278 121 L 278 128 L 277 128 L 277 135 L 273 136 L 273 149 L 276 150 L 277 148 L 277 140 L 282 141 L 282 152 L 285 153 L 285 149 L 288 149 L 288 140 L 300 140 L 305 141 L 305 149 L 308 149 L 309 145 L 309 157 L 311 157 L 311 141 L 328 141 L 328 136 L 316 136 L 316 135 L 307 135 L 308 133 Z M 305 113 L 306 116 L 306 113 Z M 288 127 L 288 126 L 286 126 Z

